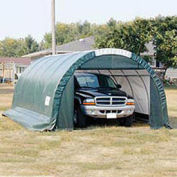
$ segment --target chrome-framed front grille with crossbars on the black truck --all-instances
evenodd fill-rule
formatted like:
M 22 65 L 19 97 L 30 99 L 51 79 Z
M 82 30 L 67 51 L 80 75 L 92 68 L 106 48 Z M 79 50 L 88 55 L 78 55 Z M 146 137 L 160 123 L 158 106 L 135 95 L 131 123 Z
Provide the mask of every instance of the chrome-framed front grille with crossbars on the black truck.
M 96 97 L 96 105 L 97 106 L 122 106 L 126 103 L 126 97 Z

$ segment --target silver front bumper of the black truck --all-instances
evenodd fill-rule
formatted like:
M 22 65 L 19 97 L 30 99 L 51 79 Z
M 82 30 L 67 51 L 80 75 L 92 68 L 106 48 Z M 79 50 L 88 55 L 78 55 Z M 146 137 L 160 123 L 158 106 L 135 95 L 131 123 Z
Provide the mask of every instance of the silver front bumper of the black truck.
M 109 106 L 86 106 L 81 105 L 83 113 L 87 116 L 94 118 L 107 118 L 107 114 L 116 114 L 116 118 L 123 118 L 131 116 L 134 113 L 135 106 L 119 106 L 119 107 L 109 107 Z M 115 117 L 114 117 L 115 118 Z

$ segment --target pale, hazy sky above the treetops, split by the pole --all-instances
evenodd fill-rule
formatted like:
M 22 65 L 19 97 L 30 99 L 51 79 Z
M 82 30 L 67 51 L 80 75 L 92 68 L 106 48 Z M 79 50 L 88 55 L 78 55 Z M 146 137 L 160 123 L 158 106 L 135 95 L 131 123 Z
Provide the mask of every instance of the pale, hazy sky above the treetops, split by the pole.
M 103 24 L 111 17 L 177 15 L 177 0 L 56 0 L 56 21 Z M 32 35 L 41 41 L 51 31 L 51 0 L 0 0 L 0 40 Z

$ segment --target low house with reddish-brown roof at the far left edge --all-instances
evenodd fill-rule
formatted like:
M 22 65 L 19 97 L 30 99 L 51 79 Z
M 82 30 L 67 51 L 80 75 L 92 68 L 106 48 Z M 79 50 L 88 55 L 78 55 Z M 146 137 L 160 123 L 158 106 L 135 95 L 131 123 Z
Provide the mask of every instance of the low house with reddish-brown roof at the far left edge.
M 30 58 L 0 57 L 0 82 L 13 82 L 30 63 Z

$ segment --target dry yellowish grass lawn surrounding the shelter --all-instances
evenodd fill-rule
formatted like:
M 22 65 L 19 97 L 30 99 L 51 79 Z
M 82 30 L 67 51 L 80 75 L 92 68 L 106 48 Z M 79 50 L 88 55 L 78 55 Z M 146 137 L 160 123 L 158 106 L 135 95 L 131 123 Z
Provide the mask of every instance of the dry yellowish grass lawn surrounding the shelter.
M 0 113 L 12 87 L 0 87 Z M 167 89 L 171 122 L 177 124 L 177 90 Z M 177 176 L 177 129 L 89 127 L 31 132 L 0 115 L 0 176 Z

